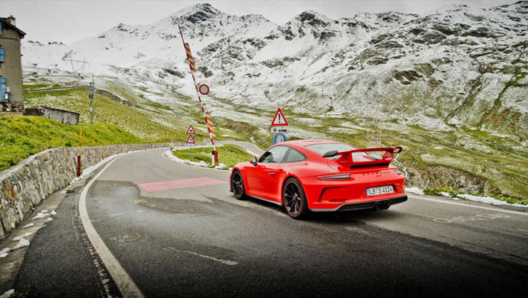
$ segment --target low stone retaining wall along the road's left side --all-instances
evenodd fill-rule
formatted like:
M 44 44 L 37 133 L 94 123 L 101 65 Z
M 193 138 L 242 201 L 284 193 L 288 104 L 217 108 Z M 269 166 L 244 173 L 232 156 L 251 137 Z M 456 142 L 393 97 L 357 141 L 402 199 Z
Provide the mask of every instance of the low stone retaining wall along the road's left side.
M 180 145 L 180 144 L 178 144 Z M 82 169 L 128 151 L 169 147 L 169 143 L 83 147 Z M 0 172 L 0 241 L 50 194 L 77 177 L 79 148 L 53 148 Z

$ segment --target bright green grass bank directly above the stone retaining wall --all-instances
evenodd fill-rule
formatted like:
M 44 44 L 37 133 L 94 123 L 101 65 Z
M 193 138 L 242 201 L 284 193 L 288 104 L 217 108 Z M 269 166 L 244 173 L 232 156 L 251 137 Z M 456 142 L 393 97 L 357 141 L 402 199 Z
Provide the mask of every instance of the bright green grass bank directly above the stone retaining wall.
M 0 170 L 49 148 L 144 143 L 114 124 L 71 126 L 39 116 L 0 117 Z

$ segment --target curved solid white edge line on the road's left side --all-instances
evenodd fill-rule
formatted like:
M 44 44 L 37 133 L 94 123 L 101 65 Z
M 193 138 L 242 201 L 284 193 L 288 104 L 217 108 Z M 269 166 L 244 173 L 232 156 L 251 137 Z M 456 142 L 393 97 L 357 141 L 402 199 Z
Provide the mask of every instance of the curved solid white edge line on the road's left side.
M 123 156 L 123 155 L 121 155 Z M 119 158 L 119 157 L 118 157 Z M 109 248 L 104 244 L 104 241 L 101 239 L 97 231 L 95 231 L 94 226 L 92 226 L 92 221 L 88 217 L 88 211 L 86 209 L 86 195 L 89 188 L 92 186 L 92 183 L 97 180 L 97 178 L 108 168 L 114 161 L 118 158 L 111 160 L 111 162 L 106 165 L 101 172 L 97 173 L 95 177 L 92 178 L 82 189 L 81 196 L 79 197 L 79 215 L 81 216 L 82 226 L 84 226 L 84 231 L 86 231 L 87 236 L 94 245 L 95 250 L 99 253 L 101 260 L 103 261 L 106 268 L 110 272 L 110 275 L 114 278 L 114 281 L 119 287 L 123 297 L 145 297 L 141 290 L 138 288 L 135 282 L 131 279 L 128 273 L 121 267 L 119 261 L 114 257 Z

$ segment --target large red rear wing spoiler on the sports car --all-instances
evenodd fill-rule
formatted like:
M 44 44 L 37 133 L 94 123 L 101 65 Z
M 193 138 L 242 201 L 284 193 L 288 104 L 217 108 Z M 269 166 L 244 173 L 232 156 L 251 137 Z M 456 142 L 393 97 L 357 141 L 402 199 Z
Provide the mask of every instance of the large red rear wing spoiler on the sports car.
M 368 154 L 372 152 L 384 152 L 384 153 L 381 156 Z M 400 153 L 400 152 L 402 152 L 401 147 L 364 148 L 364 149 L 337 152 L 331 156 L 341 155 L 341 157 L 338 160 L 336 160 L 336 162 L 339 162 L 342 166 L 346 166 L 350 168 L 375 167 L 377 165 L 389 165 L 390 162 L 392 162 L 392 158 L 394 158 L 394 154 Z M 366 154 L 361 155 L 360 158 L 362 160 L 354 161 L 353 153 L 366 153 Z M 324 157 L 331 157 L 328 155 L 329 153 L 326 153 Z

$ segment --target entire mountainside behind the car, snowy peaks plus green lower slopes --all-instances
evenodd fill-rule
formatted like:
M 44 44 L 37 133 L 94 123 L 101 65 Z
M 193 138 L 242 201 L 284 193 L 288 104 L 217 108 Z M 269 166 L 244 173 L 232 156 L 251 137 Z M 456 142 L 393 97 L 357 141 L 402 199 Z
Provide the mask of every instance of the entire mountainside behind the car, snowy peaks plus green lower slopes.
M 163 131 L 200 129 L 178 25 L 219 138 L 267 147 L 280 106 L 289 139 L 402 145 L 411 186 L 528 198 L 528 1 L 338 20 L 304 11 L 281 26 L 199 4 L 71 45 L 26 41 L 24 80 L 77 85 L 93 73 L 98 92 L 148 110 Z M 32 102 L 49 101 L 72 109 Z

